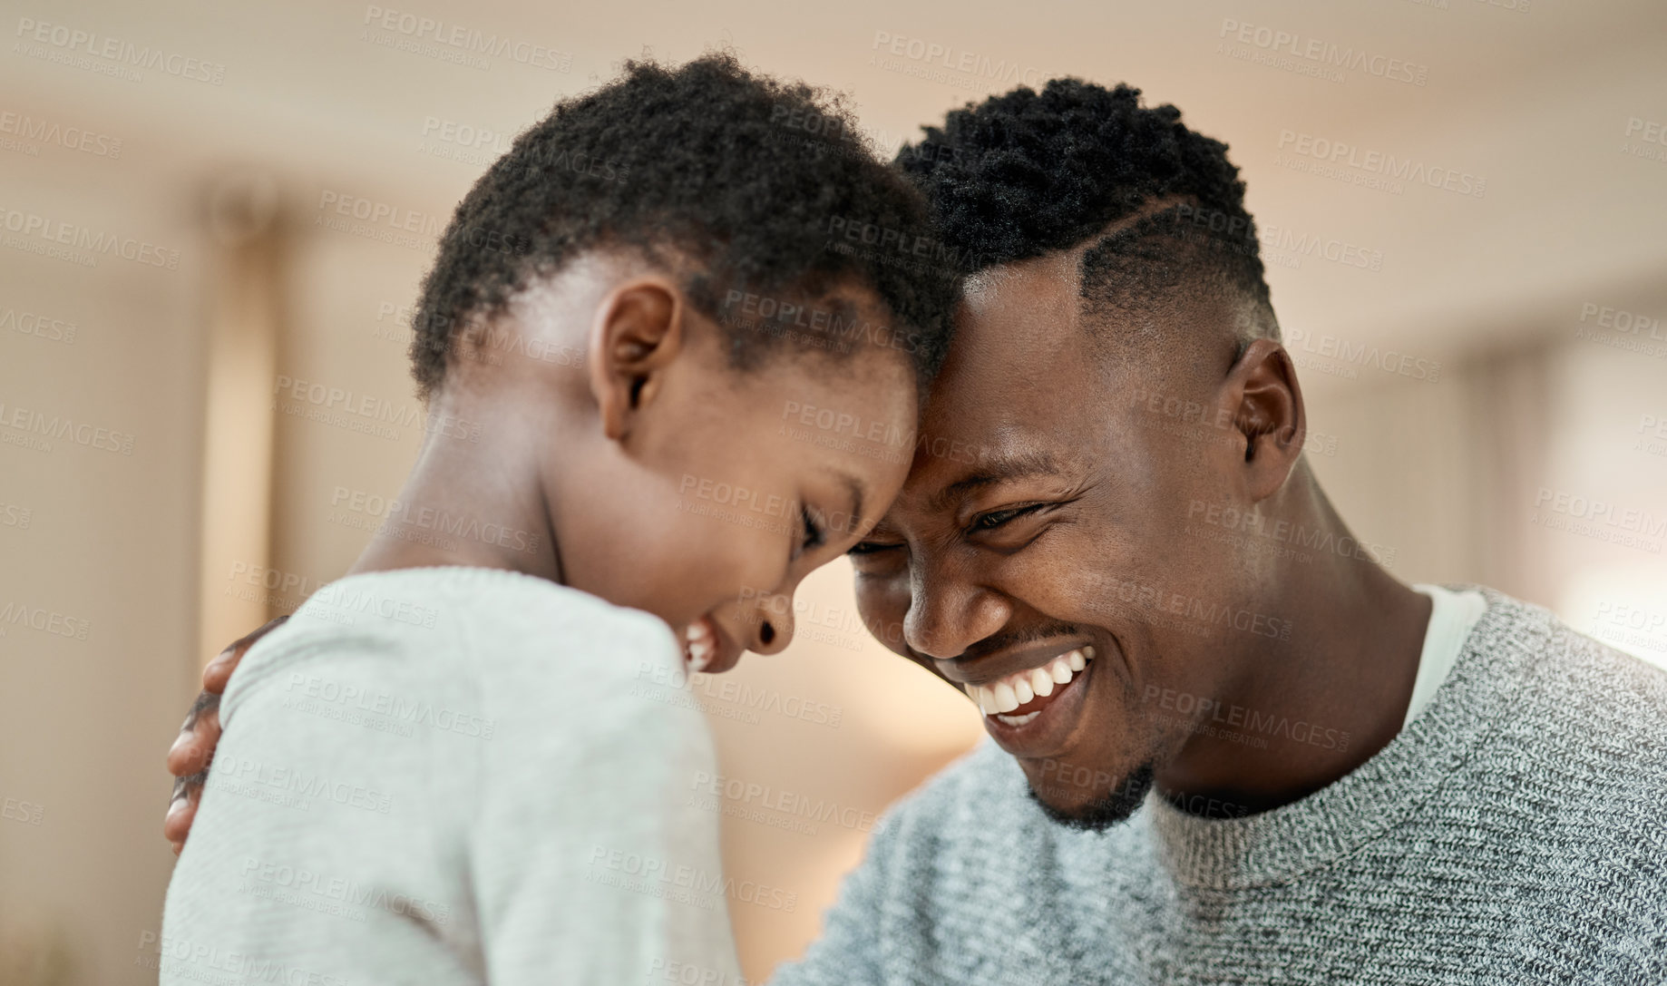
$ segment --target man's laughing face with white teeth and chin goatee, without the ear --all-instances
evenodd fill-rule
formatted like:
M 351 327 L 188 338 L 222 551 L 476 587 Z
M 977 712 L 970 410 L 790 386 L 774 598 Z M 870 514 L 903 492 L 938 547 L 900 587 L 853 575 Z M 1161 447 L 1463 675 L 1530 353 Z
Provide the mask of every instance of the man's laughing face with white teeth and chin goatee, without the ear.
M 1175 696 L 1232 686 L 1200 614 L 1242 574 L 1190 516 L 1244 444 L 1210 404 L 1230 344 L 1185 367 L 1205 357 L 1104 342 L 1115 324 L 1095 342 L 1075 259 L 969 285 L 914 470 L 852 562 L 869 629 L 980 702 L 1050 814 L 1105 824 L 1189 739 Z

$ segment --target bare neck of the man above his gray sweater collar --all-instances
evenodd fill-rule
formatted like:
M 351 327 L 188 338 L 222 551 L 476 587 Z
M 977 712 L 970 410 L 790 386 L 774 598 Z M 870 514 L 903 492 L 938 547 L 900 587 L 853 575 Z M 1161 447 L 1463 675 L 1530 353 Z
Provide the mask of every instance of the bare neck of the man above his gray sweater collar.
M 1264 579 L 1259 606 L 1290 621 L 1290 639 L 1235 634 L 1224 697 L 1205 714 L 1214 734 L 1194 732 L 1157 771 L 1172 797 L 1267 811 L 1344 777 L 1400 732 L 1430 599 L 1357 551 L 1312 477 L 1294 487 L 1280 514 L 1325 547 Z

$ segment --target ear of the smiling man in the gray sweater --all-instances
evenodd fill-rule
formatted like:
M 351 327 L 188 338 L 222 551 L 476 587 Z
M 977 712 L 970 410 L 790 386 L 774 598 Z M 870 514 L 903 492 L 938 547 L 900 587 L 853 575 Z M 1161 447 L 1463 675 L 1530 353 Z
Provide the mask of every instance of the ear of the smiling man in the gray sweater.
M 1222 405 L 1244 439 L 1245 492 L 1259 502 L 1285 484 L 1302 455 L 1309 415 L 1290 354 L 1272 339 L 1254 339 L 1227 370 Z

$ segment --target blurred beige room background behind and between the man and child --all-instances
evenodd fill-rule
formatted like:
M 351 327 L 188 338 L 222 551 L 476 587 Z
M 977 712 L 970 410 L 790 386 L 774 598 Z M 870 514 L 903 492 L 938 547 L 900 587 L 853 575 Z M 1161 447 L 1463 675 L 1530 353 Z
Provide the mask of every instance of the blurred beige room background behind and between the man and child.
M 842 88 L 885 150 L 1014 80 L 1175 102 L 1249 180 L 1310 460 L 1355 532 L 1402 579 L 1489 582 L 1667 662 L 1660 5 L 395 8 L 542 45 L 553 67 L 402 50 L 380 10 L 23 0 L 0 20 L 0 979 L 153 979 L 162 756 L 200 641 L 338 576 L 373 521 L 343 490 L 392 494 L 413 457 L 415 425 L 312 420 L 277 392 L 415 407 L 402 310 L 432 244 L 330 229 L 320 204 L 443 220 L 520 127 L 643 48 L 730 43 Z M 1424 83 L 1292 70 L 1262 43 L 1277 33 Z M 77 47 L 103 38 L 167 62 Z M 962 53 L 984 68 L 939 63 Z M 1350 165 L 1374 153 L 1425 180 Z M 65 259 L 32 224 L 118 245 L 85 265 L 75 232 Z M 693 686 L 738 782 L 717 804 L 727 866 L 793 901 L 733 904 L 753 978 L 815 934 L 867 819 L 982 734 L 865 637 L 844 566 L 800 607 L 785 654 Z M 765 789 L 839 811 L 763 807 Z

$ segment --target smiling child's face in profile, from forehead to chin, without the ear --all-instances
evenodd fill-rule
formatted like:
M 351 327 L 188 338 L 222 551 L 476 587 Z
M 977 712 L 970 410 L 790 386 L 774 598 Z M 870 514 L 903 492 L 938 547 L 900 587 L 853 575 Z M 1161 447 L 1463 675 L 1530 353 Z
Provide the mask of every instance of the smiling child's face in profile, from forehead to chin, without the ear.
M 700 377 L 667 395 L 682 425 L 658 516 L 632 552 L 653 566 L 628 577 L 652 581 L 653 612 L 672 627 L 692 627 L 690 666 L 720 672 L 743 649 L 790 642 L 798 582 L 867 534 L 902 487 L 917 405 L 907 359 L 875 347 L 753 372 L 707 355 Z

